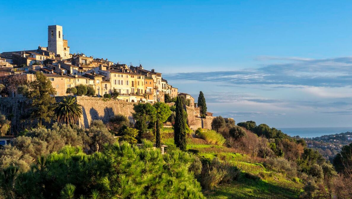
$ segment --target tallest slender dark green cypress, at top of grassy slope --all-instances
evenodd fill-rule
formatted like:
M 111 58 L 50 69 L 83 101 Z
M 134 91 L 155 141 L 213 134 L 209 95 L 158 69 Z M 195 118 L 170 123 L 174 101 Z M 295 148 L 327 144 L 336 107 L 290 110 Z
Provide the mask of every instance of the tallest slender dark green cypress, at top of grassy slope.
M 175 145 L 183 151 L 186 151 L 186 123 L 184 120 L 183 104 L 181 97 L 178 96 L 176 99 L 176 117 L 175 117 Z

